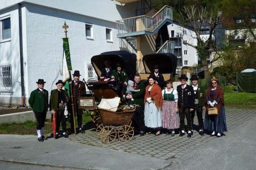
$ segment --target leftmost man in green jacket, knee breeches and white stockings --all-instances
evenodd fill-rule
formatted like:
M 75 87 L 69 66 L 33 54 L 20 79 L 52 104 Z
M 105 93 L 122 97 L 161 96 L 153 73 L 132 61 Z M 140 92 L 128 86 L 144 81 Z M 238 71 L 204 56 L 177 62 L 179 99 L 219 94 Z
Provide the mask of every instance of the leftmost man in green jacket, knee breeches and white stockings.
M 38 133 L 38 141 L 44 141 L 43 129 L 44 121 L 46 120 L 46 113 L 48 110 L 48 91 L 44 89 L 44 79 L 38 79 L 38 88 L 32 91 L 28 103 L 33 108 L 36 118 L 36 131 Z

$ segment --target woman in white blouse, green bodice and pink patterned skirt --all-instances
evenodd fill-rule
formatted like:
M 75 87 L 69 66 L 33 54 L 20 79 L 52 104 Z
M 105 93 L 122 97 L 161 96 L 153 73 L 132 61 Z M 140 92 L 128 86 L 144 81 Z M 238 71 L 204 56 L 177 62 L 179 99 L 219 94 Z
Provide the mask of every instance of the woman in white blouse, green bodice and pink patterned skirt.
M 168 129 L 167 135 L 171 133 L 174 137 L 175 129 L 180 128 L 179 108 L 177 107 L 177 90 L 172 88 L 171 80 L 166 81 L 166 88 L 162 90 L 163 107 L 162 107 L 162 128 Z

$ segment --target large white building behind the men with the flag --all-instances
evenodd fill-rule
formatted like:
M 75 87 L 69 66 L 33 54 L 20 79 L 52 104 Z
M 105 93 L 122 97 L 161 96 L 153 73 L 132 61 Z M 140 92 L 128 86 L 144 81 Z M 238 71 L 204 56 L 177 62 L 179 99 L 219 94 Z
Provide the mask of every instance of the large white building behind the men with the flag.
M 142 2 L 141 2 L 142 3 Z M 88 79 L 90 58 L 129 50 L 117 38 L 115 20 L 135 16 L 137 2 L 111 0 L 4 0 L 0 3 L 0 103 L 23 104 L 44 79 L 46 90 L 61 79 L 63 24 L 69 28 L 73 70 Z M 73 72 L 72 72 L 73 73 Z M 25 103 L 26 104 L 26 103 Z

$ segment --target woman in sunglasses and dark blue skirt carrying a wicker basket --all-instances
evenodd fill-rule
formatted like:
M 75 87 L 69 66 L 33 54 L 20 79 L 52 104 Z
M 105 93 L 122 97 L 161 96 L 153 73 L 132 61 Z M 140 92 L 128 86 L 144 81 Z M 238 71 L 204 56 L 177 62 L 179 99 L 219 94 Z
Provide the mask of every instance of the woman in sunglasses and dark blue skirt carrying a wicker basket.
M 207 109 L 205 113 L 204 127 L 205 129 L 212 131 L 210 137 L 217 135 L 221 137 L 224 131 L 228 131 L 226 127 L 226 116 L 224 108 L 224 90 L 218 85 L 218 80 L 213 76 L 210 80 L 212 87 L 207 90 L 207 95 L 205 96 L 205 103 L 207 103 Z M 209 115 L 209 108 L 217 108 L 217 115 Z

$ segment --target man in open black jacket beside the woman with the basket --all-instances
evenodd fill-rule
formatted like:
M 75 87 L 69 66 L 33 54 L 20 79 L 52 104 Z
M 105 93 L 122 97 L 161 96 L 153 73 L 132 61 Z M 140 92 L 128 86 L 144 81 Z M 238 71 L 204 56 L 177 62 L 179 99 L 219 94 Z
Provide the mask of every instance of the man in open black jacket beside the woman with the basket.
M 204 106 L 204 99 L 205 99 L 205 90 L 203 86 L 198 84 L 198 77 L 196 74 L 191 76 L 192 87 L 195 94 L 195 108 L 191 112 L 191 124 L 192 124 L 192 134 L 193 134 L 193 122 L 195 117 L 195 112 L 197 115 L 198 125 L 199 125 L 199 134 L 201 136 L 204 135 L 204 120 L 203 120 L 203 109 Z

